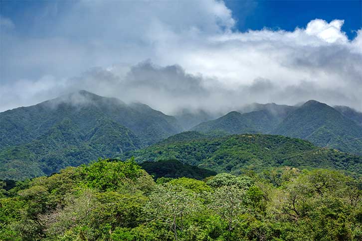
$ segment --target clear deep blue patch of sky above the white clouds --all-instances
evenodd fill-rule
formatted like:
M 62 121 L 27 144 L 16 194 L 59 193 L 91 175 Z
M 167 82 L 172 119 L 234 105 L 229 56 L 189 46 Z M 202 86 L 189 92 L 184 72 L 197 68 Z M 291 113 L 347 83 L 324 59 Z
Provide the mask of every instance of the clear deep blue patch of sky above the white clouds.
M 244 1 L 245 2 L 245 1 Z M 328 22 L 344 19 L 342 30 L 350 39 L 362 26 L 361 0 L 259 0 L 250 1 L 250 11 L 245 11 L 240 1 L 226 0 L 226 6 L 240 18 L 237 28 L 247 29 L 285 29 L 292 31 L 296 26 L 303 27 L 311 19 L 322 18 Z

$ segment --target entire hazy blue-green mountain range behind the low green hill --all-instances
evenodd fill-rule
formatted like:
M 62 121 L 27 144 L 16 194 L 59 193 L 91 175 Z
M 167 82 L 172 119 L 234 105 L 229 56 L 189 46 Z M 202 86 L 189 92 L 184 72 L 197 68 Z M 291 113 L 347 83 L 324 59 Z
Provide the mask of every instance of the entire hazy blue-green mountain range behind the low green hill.
M 187 109 L 169 116 L 141 103 L 87 91 L 8 110 L 0 113 L 0 179 L 49 175 L 98 157 L 138 155 L 136 150 L 153 151 L 148 146 L 173 145 L 181 138 L 214 141 L 243 133 L 291 136 L 362 155 L 362 113 L 348 107 L 317 101 L 298 107 L 251 104 L 219 116 Z M 188 129 L 193 131 L 180 133 Z

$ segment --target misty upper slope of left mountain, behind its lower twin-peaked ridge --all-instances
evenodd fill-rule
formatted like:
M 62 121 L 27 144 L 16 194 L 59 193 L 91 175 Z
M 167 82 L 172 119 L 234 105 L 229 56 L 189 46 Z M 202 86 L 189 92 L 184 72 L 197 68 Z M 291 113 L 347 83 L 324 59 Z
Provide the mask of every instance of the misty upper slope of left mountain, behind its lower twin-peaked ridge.
M 130 128 L 144 145 L 181 131 L 174 117 L 153 110 L 147 105 L 126 105 L 116 98 L 79 91 L 35 106 L 0 113 L 0 149 L 27 143 L 64 118 L 76 123 L 83 133 L 101 118 L 114 120 Z

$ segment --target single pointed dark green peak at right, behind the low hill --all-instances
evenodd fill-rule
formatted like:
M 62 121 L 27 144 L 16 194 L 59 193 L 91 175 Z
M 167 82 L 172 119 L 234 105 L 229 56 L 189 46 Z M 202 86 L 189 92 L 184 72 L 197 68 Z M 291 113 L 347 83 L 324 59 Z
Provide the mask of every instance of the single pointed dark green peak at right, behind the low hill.
M 273 133 L 362 154 L 362 127 L 336 109 L 313 100 L 292 112 Z

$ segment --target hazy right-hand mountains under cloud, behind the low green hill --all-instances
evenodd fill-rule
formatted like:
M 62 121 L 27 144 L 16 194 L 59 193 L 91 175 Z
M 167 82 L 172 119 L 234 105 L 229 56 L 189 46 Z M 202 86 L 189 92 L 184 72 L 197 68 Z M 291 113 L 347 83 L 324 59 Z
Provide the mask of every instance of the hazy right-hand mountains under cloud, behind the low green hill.
M 230 112 L 216 120 L 200 123 L 192 130 L 280 134 L 309 140 L 318 146 L 362 154 L 362 126 L 358 124 L 358 112 L 343 112 L 341 108 L 338 111 L 317 101 L 308 101 L 298 108 L 273 104 L 255 106 L 259 111 Z

